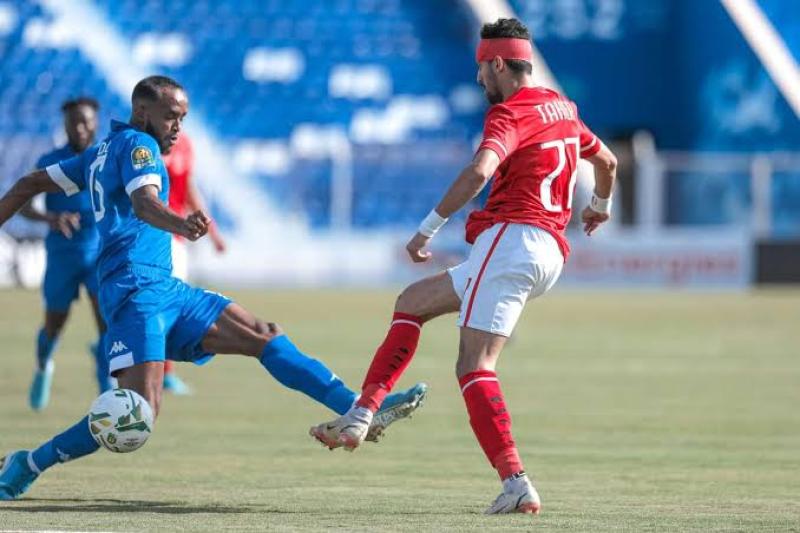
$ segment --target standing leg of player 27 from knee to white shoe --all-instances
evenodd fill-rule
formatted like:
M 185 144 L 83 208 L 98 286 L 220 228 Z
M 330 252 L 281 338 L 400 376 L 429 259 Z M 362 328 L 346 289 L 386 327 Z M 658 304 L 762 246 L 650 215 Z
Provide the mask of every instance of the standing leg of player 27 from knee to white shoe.
M 472 430 L 503 483 L 503 492 L 486 513 L 538 514 L 539 494 L 519 458 L 511 435 L 511 415 L 495 373 L 505 342 L 501 335 L 462 327 L 456 374 Z

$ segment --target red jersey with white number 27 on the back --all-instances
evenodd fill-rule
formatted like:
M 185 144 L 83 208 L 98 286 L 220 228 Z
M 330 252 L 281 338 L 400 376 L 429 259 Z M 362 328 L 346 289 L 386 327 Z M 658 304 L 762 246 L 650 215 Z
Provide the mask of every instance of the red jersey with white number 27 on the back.
M 578 159 L 600 147 L 577 106 L 550 89 L 523 87 L 490 107 L 478 150 L 492 150 L 500 166 L 485 207 L 467 219 L 467 242 L 497 222 L 531 224 L 555 237 L 566 260 Z

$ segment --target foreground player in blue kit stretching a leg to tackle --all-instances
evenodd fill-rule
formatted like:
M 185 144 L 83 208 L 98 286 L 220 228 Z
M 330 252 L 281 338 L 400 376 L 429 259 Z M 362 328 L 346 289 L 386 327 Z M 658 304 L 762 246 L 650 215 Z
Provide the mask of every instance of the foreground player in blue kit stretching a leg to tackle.
M 17 181 L 0 198 L 0 224 L 38 193 L 90 191 L 101 239 L 99 299 L 110 371 L 120 388 L 141 394 L 155 414 L 165 358 L 201 364 L 216 353 L 254 357 L 286 387 L 345 413 L 356 393 L 300 352 L 280 326 L 170 275 L 170 233 L 196 241 L 211 222 L 201 211 L 183 218 L 167 207 L 169 179 L 161 153 L 177 140 L 189 101 L 175 80 L 151 76 L 133 89 L 132 107 L 129 123 L 112 121 L 99 145 Z M 373 435 L 408 416 L 425 392 L 418 384 L 387 398 Z M 0 469 L 0 500 L 19 497 L 45 469 L 98 448 L 84 417 L 32 451 L 8 454 Z

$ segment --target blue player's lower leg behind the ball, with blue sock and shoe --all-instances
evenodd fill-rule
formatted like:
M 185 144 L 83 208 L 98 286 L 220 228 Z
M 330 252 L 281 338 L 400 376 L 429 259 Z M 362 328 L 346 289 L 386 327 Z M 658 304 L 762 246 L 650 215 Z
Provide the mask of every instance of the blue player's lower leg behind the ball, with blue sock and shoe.
M 163 363 L 147 362 L 123 369 L 118 374 L 121 388 L 141 394 L 158 416 L 161 403 Z M 89 430 L 88 416 L 34 450 L 19 450 L 0 459 L 0 500 L 14 500 L 24 494 L 48 468 L 94 453 L 100 445 Z

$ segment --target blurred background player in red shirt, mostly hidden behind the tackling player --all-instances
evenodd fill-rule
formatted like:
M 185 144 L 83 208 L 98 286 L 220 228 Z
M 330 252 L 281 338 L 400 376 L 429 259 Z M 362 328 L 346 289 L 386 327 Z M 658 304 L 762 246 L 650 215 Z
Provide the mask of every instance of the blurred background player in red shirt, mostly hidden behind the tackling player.
M 197 190 L 192 173 L 194 172 L 194 151 L 189 136 L 182 133 L 169 154 L 163 156 L 169 174 L 169 207 L 180 216 L 203 211 L 208 213 L 200 191 Z M 209 227 L 208 236 L 219 253 L 225 252 L 225 241 L 219 234 L 216 224 Z M 187 281 L 189 253 L 186 241 L 179 235 L 172 236 L 172 275 Z M 189 394 L 191 389 L 175 373 L 172 361 L 164 364 L 164 390 L 173 394 Z

